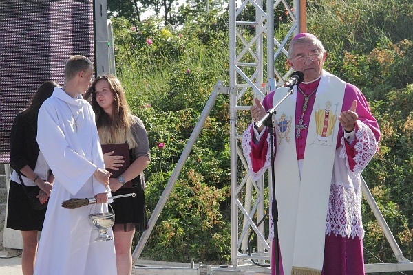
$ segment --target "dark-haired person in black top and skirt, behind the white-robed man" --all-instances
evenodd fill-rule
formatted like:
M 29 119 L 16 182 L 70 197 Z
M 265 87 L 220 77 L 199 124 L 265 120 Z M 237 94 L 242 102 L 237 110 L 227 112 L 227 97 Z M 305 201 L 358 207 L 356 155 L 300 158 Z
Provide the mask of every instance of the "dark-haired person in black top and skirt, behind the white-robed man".
M 38 245 L 37 235 L 42 230 L 46 209 L 33 210 L 30 207 L 21 180 L 28 191 L 39 186 L 39 200 L 41 203 L 46 203 L 52 192 L 54 176 L 36 142 L 37 113 L 41 104 L 52 96 L 54 87 L 59 85 L 53 81 L 46 81 L 37 89 L 28 109 L 21 111 L 14 118 L 10 135 L 10 166 L 13 172 L 10 176 L 7 227 L 21 231 L 23 238 L 21 269 L 24 275 L 33 274 Z

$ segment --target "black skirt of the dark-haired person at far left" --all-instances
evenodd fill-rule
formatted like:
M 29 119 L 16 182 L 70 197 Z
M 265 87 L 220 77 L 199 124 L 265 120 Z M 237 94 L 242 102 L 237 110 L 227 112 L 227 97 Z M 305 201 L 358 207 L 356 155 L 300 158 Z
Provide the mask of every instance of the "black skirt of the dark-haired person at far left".
M 30 190 L 34 186 L 26 186 L 26 188 Z M 15 181 L 10 181 L 7 228 L 20 231 L 41 231 L 45 214 L 46 209 L 32 210 L 23 187 Z

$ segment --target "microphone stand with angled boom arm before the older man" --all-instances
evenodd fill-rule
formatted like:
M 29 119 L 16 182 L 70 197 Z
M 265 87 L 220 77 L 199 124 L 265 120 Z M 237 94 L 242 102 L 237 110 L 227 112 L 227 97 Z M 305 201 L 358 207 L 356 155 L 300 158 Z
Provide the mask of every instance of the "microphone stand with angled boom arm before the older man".
M 290 87 L 286 96 L 279 100 L 279 102 L 271 109 L 269 109 L 264 117 L 258 122 L 255 122 L 254 127 L 255 129 L 260 128 L 260 126 L 264 125 L 268 128 L 268 135 L 270 135 L 270 150 L 271 150 L 271 180 L 273 182 L 273 201 L 271 204 L 271 212 L 273 213 L 273 225 L 274 225 L 274 245 L 275 245 L 275 267 L 276 271 L 275 274 L 279 275 L 279 242 L 278 242 L 278 206 L 277 206 L 277 198 L 275 197 L 275 170 L 274 170 L 274 127 L 272 122 L 273 114 L 277 113 L 275 109 L 281 104 L 288 96 L 294 93 L 293 87 Z

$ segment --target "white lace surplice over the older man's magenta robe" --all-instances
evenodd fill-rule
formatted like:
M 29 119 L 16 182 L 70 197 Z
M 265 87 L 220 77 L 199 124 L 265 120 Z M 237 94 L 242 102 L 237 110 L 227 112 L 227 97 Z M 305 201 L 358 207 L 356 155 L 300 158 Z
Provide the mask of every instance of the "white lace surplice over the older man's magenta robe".
M 333 167 L 332 184 L 330 188 L 330 199 L 328 202 L 328 211 L 326 217 L 326 234 L 335 234 L 335 236 L 347 236 L 354 238 L 355 236 L 360 239 L 364 236 L 363 224 L 361 222 L 361 181 L 360 175 L 364 168 L 366 168 L 370 159 L 372 159 L 374 153 L 377 151 L 377 141 L 372 131 L 368 126 L 362 122 L 357 122 L 359 130 L 356 133 L 356 144 L 354 149 L 356 154 L 354 155 L 354 170 L 350 170 L 348 164 L 348 155 L 346 148 L 344 148 L 344 139 L 342 139 L 340 148 L 337 148 L 335 157 L 335 164 Z M 271 164 L 271 151 L 266 153 L 266 160 L 264 166 L 257 172 L 252 170 L 251 159 L 251 143 L 253 137 L 251 135 L 251 127 L 248 126 L 244 132 L 242 138 L 242 148 L 244 149 L 244 157 L 248 164 L 248 172 L 253 180 L 257 180 L 263 175 L 266 169 Z M 268 144 L 269 135 L 266 135 Z M 350 176 L 348 176 L 350 175 Z M 273 199 L 271 197 L 271 199 Z M 271 212 L 271 209 L 270 209 Z M 273 239 L 273 219 L 272 213 L 270 217 L 270 236 Z

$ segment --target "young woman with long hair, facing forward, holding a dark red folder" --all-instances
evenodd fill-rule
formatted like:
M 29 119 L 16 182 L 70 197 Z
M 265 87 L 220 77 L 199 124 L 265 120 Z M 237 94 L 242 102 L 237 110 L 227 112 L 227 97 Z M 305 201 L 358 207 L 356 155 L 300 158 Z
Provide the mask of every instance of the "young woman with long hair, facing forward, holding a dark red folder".
M 150 162 L 147 132 L 142 120 L 131 114 L 125 92 L 116 76 L 105 74 L 95 78 L 84 98 L 89 96 L 92 96 L 92 107 L 96 113 L 100 143 L 127 143 L 129 146 L 129 167 L 122 175 L 109 179 L 112 195 L 136 193 L 136 197 L 114 199 L 111 203 L 115 213 L 112 229 L 118 275 L 129 275 L 132 268 L 132 239 L 135 232 L 147 229 L 143 175 L 143 170 Z M 120 156 L 112 154 L 109 152 L 103 155 L 105 168 L 118 170 L 124 161 Z

